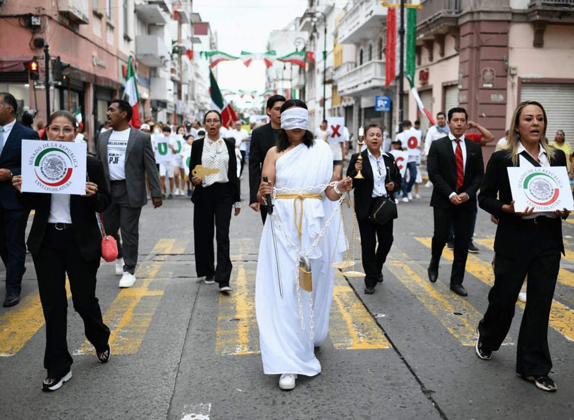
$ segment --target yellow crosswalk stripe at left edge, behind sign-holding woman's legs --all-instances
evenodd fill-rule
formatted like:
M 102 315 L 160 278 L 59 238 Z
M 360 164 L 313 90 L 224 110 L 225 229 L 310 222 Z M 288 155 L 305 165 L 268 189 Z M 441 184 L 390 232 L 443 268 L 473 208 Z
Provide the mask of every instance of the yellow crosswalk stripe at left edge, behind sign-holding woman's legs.
M 70 286 L 66 278 L 66 296 L 71 297 Z M 20 305 L 0 317 L 0 356 L 13 356 L 44 325 L 44 312 L 40 302 L 40 293 L 34 290 L 20 302 Z

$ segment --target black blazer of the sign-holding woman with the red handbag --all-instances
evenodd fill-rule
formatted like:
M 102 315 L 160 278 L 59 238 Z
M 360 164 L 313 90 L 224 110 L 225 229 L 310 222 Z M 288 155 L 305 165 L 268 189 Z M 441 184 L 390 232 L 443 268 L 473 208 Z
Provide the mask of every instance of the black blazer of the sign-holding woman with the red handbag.
M 110 205 L 111 197 L 102 162 L 88 155 L 86 168 L 90 182 L 98 185 L 98 192 L 93 197 L 72 195 L 70 197 L 70 216 L 80 254 L 84 260 L 91 261 L 102 256 L 102 233 L 98 227 L 96 212 L 102 213 Z M 16 194 L 22 207 L 36 209 L 26 244 L 30 254 L 37 256 L 42 248 L 44 234 L 48 227 L 52 194 L 18 192 Z

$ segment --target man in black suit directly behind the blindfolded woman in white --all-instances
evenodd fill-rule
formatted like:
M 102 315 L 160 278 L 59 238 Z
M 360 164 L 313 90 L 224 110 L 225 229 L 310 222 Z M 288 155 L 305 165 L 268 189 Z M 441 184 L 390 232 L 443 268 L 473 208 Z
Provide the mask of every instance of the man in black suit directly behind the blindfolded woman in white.
M 251 146 L 249 149 L 249 207 L 261 212 L 261 219 L 265 224 L 267 208 L 261 207 L 257 201 L 257 190 L 261 184 L 261 168 L 267 151 L 277 144 L 277 136 L 281 131 L 281 106 L 286 99 L 281 95 L 273 95 L 267 99 L 266 112 L 269 115 L 269 124 L 253 130 L 251 133 Z

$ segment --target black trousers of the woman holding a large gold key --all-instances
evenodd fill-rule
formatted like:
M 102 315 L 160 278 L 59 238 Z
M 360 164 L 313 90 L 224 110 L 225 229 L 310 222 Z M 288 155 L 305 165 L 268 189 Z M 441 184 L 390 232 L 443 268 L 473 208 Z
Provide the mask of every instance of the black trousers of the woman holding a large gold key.
M 229 256 L 229 224 L 233 199 L 229 182 L 203 188 L 200 203 L 193 209 L 195 269 L 197 277 L 215 276 L 220 285 L 228 285 L 231 277 Z M 214 224 L 215 222 L 215 224 Z M 217 242 L 217 268 L 214 262 L 214 227 Z

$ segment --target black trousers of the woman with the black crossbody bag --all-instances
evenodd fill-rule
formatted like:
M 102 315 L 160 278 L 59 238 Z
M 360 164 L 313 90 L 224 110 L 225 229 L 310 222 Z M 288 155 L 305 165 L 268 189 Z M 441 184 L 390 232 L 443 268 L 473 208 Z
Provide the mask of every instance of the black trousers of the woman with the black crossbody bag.
M 357 223 L 359 224 L 360 245 L 363 254 L 363 270 L 366 274 L 364 285 L 375 287 L 379 274 L 382 273 L 383 264 L 393 245 L 393 220 L 386 224 L 378 224 L 367 218 L 357 219 Z M 376 252 L 375 247 L 377 248 Z

